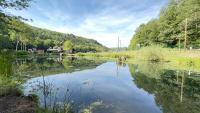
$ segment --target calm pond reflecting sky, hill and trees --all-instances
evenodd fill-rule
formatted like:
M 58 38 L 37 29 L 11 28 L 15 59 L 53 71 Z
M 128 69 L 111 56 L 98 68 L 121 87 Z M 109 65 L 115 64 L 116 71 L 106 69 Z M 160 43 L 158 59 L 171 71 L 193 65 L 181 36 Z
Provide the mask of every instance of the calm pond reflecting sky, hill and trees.
M 200 73 L 84 58 L 16 59 L 39 106 L 75 113 L 199 113 Z

